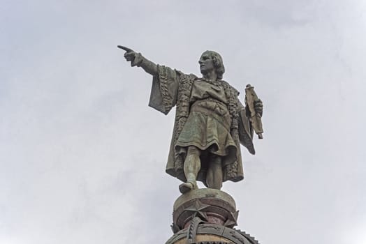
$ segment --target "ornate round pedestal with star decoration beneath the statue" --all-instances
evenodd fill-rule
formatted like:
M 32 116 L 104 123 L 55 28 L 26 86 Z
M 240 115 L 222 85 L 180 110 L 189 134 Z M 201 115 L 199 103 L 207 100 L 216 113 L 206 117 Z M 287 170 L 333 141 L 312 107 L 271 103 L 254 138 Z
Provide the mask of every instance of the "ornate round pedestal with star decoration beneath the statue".
M 174 235 L 166 244 L 258 244 L 237 225 L 235 201 L 214 189 L 191 190 L 173 208 Z

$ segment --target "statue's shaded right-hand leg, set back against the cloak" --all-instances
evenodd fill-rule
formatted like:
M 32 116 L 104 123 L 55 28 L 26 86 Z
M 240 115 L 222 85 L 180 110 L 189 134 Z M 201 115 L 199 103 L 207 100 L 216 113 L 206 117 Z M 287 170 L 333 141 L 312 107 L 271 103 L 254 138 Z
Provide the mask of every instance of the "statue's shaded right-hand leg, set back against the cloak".
M 208 188 L 220 190 L 222 187 L 221 157 L 213 155 L 208 165 L 206 183 Z

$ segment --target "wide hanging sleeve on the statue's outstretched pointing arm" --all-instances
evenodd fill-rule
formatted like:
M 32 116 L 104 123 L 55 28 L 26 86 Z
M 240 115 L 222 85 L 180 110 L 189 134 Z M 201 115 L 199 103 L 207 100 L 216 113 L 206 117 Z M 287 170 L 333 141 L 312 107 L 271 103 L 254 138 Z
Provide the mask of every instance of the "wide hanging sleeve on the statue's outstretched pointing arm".
M 158 75 L 152 78 L 149 106 L 168 114 L 177 102 L 180 72 L 158 65 Z

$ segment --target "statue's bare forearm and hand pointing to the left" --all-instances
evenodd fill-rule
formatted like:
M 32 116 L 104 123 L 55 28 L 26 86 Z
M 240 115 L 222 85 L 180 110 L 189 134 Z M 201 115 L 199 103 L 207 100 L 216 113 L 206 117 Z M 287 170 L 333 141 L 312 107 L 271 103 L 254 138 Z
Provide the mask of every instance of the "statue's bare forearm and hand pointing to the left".
M 149 61 L 146 59 L 140 52 L 135 52 L 133 49 L 130 49 L 129 47 L 124 46 L 117 46 L 120 49 L 124 49 L 126 51 L 124 53 L 124 58 L 126 61 L 131 61 L 131 66 L 138 66 L 142 67 L 146 73 L 149 73 L 150 75 L 156 76 L 158 75 L 158 66 L 156 66 L 156 63 Z

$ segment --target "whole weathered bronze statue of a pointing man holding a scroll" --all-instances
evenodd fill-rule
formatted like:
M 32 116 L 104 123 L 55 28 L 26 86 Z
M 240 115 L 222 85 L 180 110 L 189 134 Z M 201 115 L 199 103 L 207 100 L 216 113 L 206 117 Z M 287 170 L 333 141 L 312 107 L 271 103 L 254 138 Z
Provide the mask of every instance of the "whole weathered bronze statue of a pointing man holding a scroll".
M 246 96 L 246 108 L 237 98 L 239 92 L 222 80 L 225 68 L 217 52 L 200 56 L 203 77 L 198 78 L 156 65 L 128 47 L 118 47 L 126 51 L 124 57 L 131 66 L 153 76 L 149 106 L 163 114 L 176 106 L 166 172 L 184 182 L 180 192 L 197 189 L 196 180 L 218 190 L 224 181 L 242 180 L 240 143 L 254 154 L 254 127 L 259 138 L 263 132 L 263 103 L 253 88 L 247 86 L 251 96 Z

